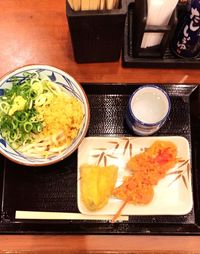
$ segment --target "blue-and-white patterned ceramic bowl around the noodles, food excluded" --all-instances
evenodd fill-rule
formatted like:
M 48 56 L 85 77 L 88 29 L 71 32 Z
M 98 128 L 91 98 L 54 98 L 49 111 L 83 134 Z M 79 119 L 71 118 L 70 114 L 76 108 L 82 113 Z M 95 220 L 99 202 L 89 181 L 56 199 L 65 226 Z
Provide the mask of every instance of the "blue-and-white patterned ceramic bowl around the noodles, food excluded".
M 57 69 L 52 66 L 47 65 L 29 65 L 14 70 L 0 79 L 0 96 L 4 94 L 4 89 L 11 88 L 12 83 L 10 78 L 20 77 L 24 72 L 37 72 L 41 77 L 48 77 L 51 81 L 56 83 L 58 86 L 62 86 L 68 93 L 76 97 L 83 105 L 84 119 L 82 127 L 78 132 L 77 137 L 73 140 L 72 144 L 65 149 L 61 154 L 57 154 L 49 158 L 32 158 L 25 156 L 24 154 L 13 150 L 6 140 L 0 135 L 0 153 L 6 158 L 22 165 L 26 166 L 46 166 L 56 162 L 59 162 L 69 155 L 71 155 L 79 146 L 82 139 L 85 137 L 90 120 L 90 108 L 87 96 L 81 87 L 81 85 L 75 81 L 69 74 L 66 72 Z M 59 114 L 59 112 L 58 112 Z

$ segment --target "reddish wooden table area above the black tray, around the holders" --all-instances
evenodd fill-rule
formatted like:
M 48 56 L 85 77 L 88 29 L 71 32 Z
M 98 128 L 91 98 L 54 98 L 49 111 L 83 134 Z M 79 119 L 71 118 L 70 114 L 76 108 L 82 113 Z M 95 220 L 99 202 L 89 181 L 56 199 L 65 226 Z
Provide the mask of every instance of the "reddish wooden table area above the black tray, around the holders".
M 0 76 L 23 65 L 48 64 L 79 82 L 199 82 L 199 70 L 129 69 L 121 66 L 121 60 L 77 64 L 65 0 L 2 0 L 0 10 Z

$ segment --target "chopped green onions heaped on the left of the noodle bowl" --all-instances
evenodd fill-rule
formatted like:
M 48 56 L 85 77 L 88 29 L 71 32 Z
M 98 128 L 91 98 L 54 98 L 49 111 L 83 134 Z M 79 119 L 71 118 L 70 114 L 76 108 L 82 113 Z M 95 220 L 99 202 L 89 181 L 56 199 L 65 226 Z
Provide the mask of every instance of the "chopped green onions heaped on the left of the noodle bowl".
M 39 72 L 10 78 L 12 86 L 0 97 L 0 133 L 14 148 L 33 141 L 45 126 L 37 108 L 48 105 L 59 93 Z

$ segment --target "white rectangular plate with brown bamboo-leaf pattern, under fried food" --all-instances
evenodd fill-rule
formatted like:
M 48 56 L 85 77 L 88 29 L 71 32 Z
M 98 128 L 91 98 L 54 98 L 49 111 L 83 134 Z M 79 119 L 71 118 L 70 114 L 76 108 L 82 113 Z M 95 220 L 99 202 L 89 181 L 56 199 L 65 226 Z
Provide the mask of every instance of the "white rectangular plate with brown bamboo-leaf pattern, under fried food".
M 180 136 L 168 137 L 87 137 L 78 148 L 78 208 L 87 215 L 114 215 L 123 204 L 122 200 L 110 198 L 106 206 L 98 211 L 89 211 L 81 200 L 80 165 L 84 163 L 101 166 L 118 166 L 116 186 L 129 172 L 125 164 L 130 156 L 140 153 L 156 140 L 171 141 L 177 146 L 180 162 L 170 169 L 154 187 L 154 198 L 148 205 L 127 204 L 122 215 L 184 215 L 193 207 L 191 186 L 191 163 L 188 141 Z M 131 144 L 131 145 L 130 145 Z M 131 148 L 132 146 L 132 148 Z

